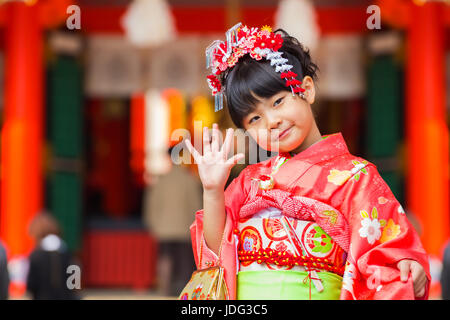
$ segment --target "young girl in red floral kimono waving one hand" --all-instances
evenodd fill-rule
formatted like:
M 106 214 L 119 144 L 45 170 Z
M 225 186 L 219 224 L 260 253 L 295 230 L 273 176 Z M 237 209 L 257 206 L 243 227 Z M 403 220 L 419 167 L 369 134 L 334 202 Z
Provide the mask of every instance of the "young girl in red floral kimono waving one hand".
M 224 192 L 233 129 L 186 140 L 203 184 L 191 226 L 199 269 L 220 264 L 231 299 L 426 298 L 427 255 L 375 165 L 340 133 L 322 136 L 311 104 L 317 66 L 284 31 L 236 25 L 207 49 L 216 107 L 277 157 L 247 166 Z M 411 274 L 411 276 L 409 276 Z

